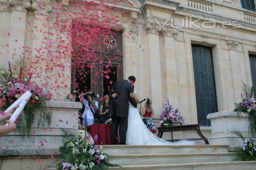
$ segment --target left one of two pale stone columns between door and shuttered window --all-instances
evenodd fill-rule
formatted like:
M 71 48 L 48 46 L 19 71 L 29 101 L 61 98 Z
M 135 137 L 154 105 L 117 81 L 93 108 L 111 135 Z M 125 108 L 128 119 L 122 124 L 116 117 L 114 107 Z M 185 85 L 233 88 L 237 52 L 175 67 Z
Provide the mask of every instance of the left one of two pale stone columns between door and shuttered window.
M 158 117 L 162 111 L 162 86 L 161 86 L 161 69 L 160 69 L 160 49 L 159 49 L 159 33 L 156 29 L 155 22 L 146 21 L 144 24 L 146 32 L 146 43 L 148 49 L 145 51 L 149 58 L 148 81 L 151 87 L 151 99 L 154 103 L 155 117 Z

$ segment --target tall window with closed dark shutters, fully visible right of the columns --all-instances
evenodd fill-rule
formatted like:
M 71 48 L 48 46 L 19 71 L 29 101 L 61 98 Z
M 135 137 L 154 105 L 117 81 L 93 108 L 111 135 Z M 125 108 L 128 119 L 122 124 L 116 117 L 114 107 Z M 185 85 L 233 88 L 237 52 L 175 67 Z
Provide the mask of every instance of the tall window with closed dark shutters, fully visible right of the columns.
M 201 126 L 210 126 L 207 115 L 218 111 L 215 89 L 212 48 L 192 44 L 197 120 Z

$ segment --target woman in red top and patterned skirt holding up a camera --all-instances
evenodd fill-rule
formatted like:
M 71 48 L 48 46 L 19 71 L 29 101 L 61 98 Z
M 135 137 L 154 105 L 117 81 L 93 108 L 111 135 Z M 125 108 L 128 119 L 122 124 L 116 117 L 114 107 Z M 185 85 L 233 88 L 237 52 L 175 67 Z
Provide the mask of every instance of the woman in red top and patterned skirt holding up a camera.
M 152 108 L 152 101 L 147 98 L 147 102 L 144 104 L 142 108 L 143 122 L 146 127 L 152 132 L 156 133 L 156 127 L 154 125 L 153 119 L 151 115 L 154 115 L 154 109 Z

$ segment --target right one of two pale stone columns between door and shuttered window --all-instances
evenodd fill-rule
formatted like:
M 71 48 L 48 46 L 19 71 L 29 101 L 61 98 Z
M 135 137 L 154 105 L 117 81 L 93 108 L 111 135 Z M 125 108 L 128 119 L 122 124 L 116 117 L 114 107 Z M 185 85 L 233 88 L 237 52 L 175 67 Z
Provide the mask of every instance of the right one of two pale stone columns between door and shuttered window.
M 174 107 L 178 108 L 178 82 L 177 82 L 177 70 L 176 70 L 176 55 L 175 55 L 175 44 L 176 35 L 178 30 L 176 29 L 165 29 L 163 30 L 164 35 L 164 71 L 166 83 L 166 97 L 169 99 L 169 103 Z

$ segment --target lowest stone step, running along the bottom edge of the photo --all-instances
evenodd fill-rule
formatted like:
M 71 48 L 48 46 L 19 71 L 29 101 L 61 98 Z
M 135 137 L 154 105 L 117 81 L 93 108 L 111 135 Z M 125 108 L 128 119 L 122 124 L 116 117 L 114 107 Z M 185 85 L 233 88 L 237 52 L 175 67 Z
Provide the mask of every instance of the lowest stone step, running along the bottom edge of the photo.
M 110 170 L 195 170 L 195 169 L 196 170 L 256 170 L 256 161 L 164 164 L 164 165 L 135 165 L 135 166 L 110 167 Z

